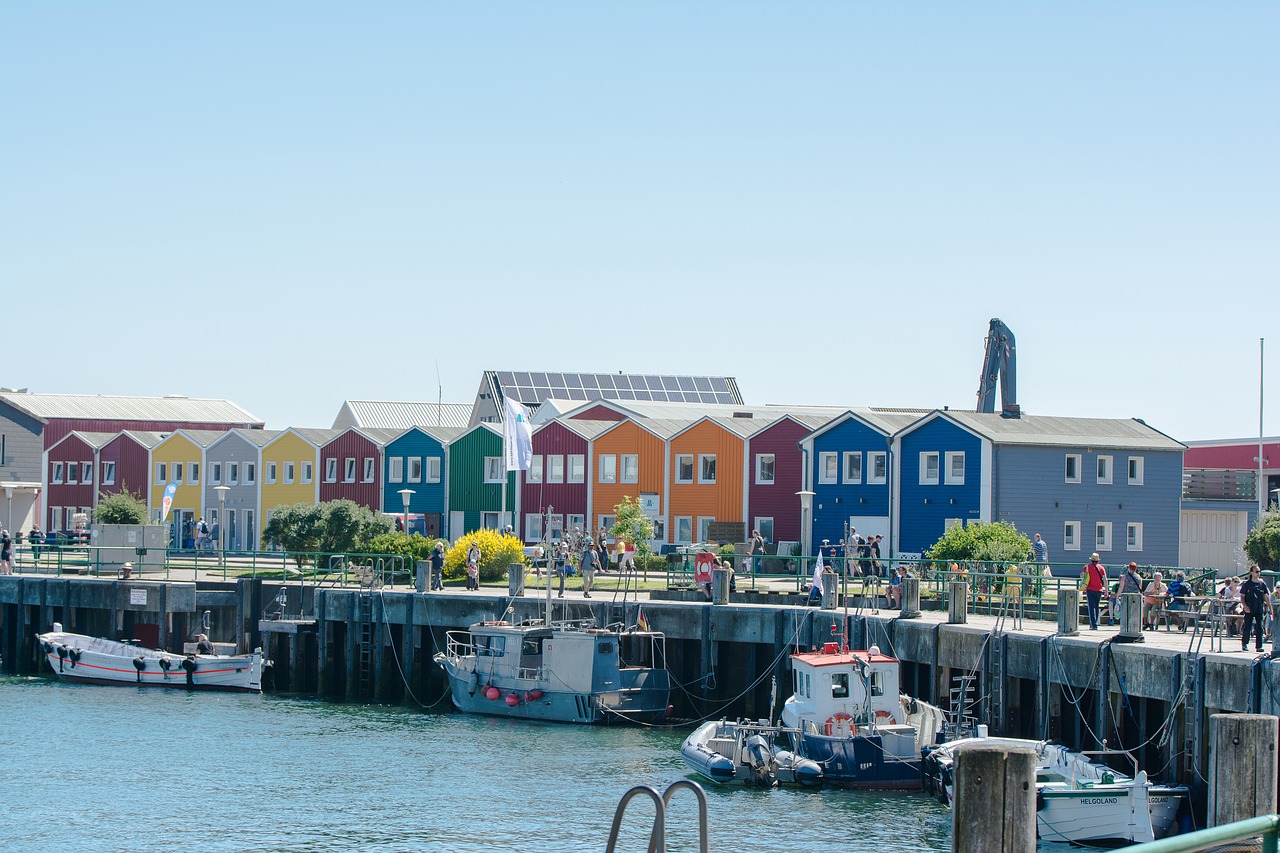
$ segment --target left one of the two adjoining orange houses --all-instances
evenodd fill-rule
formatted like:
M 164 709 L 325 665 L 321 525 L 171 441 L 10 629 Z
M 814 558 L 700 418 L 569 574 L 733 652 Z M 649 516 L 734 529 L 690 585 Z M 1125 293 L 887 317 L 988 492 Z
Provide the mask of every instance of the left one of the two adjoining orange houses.
M 673 430 L 663 421 L 620 420 L 591 442 L 591 491 L 588 512 L 591 529 L 613 523 L 613 508 L 623 497 L 640 501 L 654 519 L 654 542 L 667 542 L 663 471 L 667 469 L 667 437 Z

